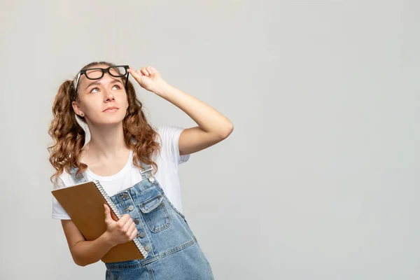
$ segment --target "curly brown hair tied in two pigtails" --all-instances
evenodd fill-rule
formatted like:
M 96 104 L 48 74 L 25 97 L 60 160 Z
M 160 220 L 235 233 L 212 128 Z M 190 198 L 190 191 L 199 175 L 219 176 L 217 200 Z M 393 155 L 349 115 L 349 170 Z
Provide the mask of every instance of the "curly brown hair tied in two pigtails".
M 92 62 L 83 66 L 87 69 L 99 64 L 115 66 L 110 62 Z M 50 153 L 50 163 L 56 172 L 50 177 L 52 183 L 64 170 L 69 172 L 71 167 L 77 167 L 80 174 L 87 169 L 87 165 L 80 162 L 80 156 L 85 145 L 85 130 L 76 120 L 76 113 L 73 111 L 72 102 L 79 100 L 78 92 L 74 89 L 74 80 L 65 80 L 59 86 L 52 105 L 52 121 L 48 134 L 55 141 L 55 144 L 48 147 Z M 155 172 L 158 165 L 151 160 L 153 154 L 160 151 L 160 145 L 155 141 L 159 134 L 155 132 L 146 119 L 143 104 L 137 99 L 134 85 L 127 80 L 127 100 L 128 109 L 123 120 L 123 132 L 125 145 L 133 151 L 133 163 L 136 167 L 141 167 L 139 162 L 153 165 Z M 85 118 L 77 116 L 83 123 Z M 160 137 L 160 136 L 159 136 Z

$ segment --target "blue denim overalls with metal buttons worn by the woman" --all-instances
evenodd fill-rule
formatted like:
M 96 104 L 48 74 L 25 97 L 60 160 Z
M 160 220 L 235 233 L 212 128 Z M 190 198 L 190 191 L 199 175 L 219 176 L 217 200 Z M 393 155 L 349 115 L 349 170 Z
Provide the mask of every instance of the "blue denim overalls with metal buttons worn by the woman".
M 107 262 L 106 279 L 201 280 L 214 279 L 211 267 L 186 221 L 169 202 L 151 165 L 141 163 L 141 181 L 111 196 L 120 214 L 129 214 L 137 228 L 137 238 L 147 251 L 147 258 Z M 75 183 L 87 181 L 83 174 Z

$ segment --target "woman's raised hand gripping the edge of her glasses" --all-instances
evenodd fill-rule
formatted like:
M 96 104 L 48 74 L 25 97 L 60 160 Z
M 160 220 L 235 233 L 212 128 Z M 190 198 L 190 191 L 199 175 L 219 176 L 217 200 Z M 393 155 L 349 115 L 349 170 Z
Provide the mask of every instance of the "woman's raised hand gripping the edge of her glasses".
M 134 71 L 130 66 L 128 72 L 137 80 L 137 83 L 144 89 L 159 94 L 167 83 L 162 79 L 158 70 L 152 66 L 143 67 L 139 70 Z

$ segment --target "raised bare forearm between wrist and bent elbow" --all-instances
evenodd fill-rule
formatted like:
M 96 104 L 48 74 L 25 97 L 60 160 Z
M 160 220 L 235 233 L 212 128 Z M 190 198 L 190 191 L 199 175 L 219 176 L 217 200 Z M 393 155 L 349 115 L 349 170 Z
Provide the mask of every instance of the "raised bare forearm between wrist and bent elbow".
M 184 111 L 205 132 L 224 136 L 232 131 L 232 122 L 222 113 L 172 85 L 165 84 L 155 93 Z

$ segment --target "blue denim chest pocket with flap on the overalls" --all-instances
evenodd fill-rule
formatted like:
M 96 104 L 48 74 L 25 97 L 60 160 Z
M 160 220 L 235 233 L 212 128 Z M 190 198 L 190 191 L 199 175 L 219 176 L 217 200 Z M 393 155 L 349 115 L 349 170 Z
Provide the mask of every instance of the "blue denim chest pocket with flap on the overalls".
M 148 228 L 152 232 L 161 232 L 171 225 L 171 219 L 169 218 L 162 195 L 159 194 L 145 202 L 141 202 L 139 208 L 143 213 Z

